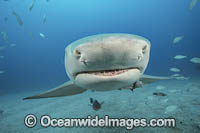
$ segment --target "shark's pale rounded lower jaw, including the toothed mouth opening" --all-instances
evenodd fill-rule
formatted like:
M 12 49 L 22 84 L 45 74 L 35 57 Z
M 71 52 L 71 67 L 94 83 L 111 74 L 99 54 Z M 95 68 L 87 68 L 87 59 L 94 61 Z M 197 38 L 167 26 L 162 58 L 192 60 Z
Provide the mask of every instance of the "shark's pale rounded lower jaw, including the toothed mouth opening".
M 74 82 L 78 86 L 90 90 L 116 90 L 136 82 L 142 74 L 137 67 L 79 72 Z

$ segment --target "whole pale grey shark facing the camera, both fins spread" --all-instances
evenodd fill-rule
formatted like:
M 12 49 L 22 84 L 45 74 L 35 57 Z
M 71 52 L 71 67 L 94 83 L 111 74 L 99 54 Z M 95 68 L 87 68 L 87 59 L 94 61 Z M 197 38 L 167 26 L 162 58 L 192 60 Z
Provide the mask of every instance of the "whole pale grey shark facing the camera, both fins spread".
M 144 37 L 125 33 L 98 34 L 74 41 L 65 49 L 65 69 L 70 80 L 24 99 L 71 96 L 88 89 L 134 89 L 141 83 L 169 79 L 144 74 L 150 47 L 150 41 Z

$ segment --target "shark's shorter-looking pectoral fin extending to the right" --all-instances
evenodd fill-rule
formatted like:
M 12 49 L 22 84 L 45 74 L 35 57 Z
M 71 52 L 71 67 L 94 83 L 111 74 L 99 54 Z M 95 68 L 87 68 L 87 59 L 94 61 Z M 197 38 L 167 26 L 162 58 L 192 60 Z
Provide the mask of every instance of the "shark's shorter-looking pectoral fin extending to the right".
M 140 78 L 140 81 L 142 81 L 142 83 L 144 85 L 146 84 L 150 84 L 159 80 L 168 80 L 168 79 L 172 79 L 171 77 L 160 77 L 160 76 L 151 76 L 151 75 L 142 75 L 142 77 Z

